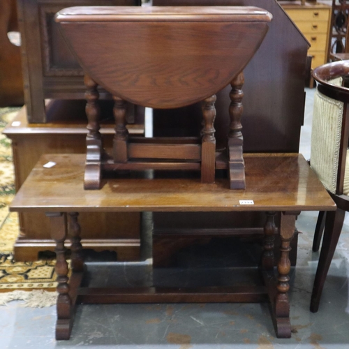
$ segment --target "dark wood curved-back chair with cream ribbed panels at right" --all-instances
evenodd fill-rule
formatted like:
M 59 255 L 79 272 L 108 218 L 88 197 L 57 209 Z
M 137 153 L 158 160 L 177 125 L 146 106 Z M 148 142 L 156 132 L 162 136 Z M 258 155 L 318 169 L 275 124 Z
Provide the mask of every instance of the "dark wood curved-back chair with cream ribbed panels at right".
M 315 228 L 313 251 L 318 251 L 325 234 L 315 276 L 311 311 L 318 311 L 346 211 L 349 211 L 349 89 L 342 86 L 349 76 L 349 61 L 338 61 L 313 70 L 318 82 L 315 92 L 311 135 L 311 168 L 336 202 L 332 212 L 321 211 Z

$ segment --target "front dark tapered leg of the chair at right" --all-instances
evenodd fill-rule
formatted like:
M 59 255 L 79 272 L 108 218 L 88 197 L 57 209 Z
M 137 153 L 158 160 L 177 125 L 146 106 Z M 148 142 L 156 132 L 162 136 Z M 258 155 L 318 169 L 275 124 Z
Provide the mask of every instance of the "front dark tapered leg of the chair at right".
M 336 211 L 328 211 L 326 214 L 324 239 L 322 242 L 318 269 L 316 270 L 313 293 L 311 294 L 310 310 L 313 313 L 316 313 L 319 309 L 322 289 L 334 251 L 336 250 L 339 235 L 341 235 L 345 215 L 346 211 L 338 208 Z

